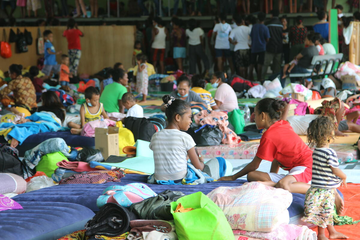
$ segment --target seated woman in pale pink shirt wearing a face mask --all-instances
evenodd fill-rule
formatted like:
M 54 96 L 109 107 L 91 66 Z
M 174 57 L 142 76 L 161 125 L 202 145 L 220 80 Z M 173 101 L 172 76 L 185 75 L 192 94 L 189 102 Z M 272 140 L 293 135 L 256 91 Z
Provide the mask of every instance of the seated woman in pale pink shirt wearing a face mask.
M 234 89 L 225 83 L 225 74 L 223 72 L 215 72 L 211 78 L 213 88 L 217 88 L 215 93 L 215 103 L 221 111 L 232 112 L 238 109 L 238 98 Z

